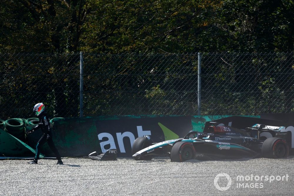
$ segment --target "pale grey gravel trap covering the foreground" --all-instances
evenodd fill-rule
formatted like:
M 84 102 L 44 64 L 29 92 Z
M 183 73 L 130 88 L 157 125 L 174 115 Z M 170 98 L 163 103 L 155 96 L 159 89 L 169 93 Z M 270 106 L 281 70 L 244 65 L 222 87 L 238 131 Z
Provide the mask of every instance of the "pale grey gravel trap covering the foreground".
M 28 160 L 0 160 L 0 195 L 294 195 L 294 156 L 183 163 L 168 158 L 63 161 L 55 165 L 56 160 L 43 159 L 29 165 Z M 216 188 L 219 173 L 230 176 L 228 190 Z M 238 175 L 248 181 L 237 181 Z M 275 180 L 258 180 L 266 175 Z M 219 187 L 227 184 L 225 177 L 216 179 Z

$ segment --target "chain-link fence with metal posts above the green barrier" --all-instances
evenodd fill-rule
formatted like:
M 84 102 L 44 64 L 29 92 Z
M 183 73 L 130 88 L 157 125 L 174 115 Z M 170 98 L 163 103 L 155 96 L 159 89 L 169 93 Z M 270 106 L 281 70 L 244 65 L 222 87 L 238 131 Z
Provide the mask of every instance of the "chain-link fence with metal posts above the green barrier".
M 31 117 L 38 102 L 52 117 L 294 110 L 293 53 L 0 54 L 0 62 L 2 119 Z

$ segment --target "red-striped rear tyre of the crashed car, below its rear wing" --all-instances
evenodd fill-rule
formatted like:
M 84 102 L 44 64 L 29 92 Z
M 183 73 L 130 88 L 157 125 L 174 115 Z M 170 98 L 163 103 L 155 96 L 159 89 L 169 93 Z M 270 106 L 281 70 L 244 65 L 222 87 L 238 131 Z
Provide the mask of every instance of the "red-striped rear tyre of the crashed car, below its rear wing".
M 268 138 L 261 147 L 264 158 L 285 158 L 289 154 L 289 146 L 282 138 Z

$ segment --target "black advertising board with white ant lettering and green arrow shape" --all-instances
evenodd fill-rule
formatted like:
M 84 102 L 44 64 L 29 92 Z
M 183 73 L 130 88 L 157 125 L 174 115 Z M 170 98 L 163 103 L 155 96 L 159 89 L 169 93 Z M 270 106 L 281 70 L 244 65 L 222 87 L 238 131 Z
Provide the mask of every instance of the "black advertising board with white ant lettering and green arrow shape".
M 120 118 L 97 120 L 96 128 L 102 152 L 118 149 L 118 156 L 131 157 L 136 138 L 150 135 L 153 142 L 183 137 L 192 130 L 191 116 Z

